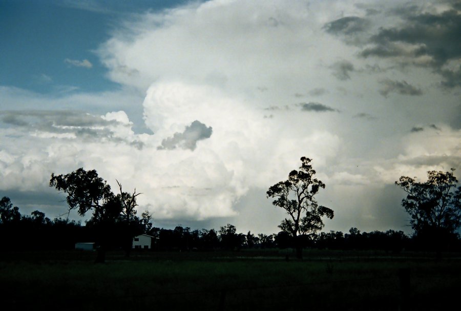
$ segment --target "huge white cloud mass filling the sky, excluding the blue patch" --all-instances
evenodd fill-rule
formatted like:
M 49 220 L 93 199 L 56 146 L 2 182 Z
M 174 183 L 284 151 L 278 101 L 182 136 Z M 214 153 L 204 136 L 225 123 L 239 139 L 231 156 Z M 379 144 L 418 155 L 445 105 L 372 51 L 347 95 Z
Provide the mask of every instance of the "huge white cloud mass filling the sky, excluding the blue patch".
M 443 9 L 431 7 L 405 17 L 404 1 L 216 0 L 132 15 L 97 50 L 119 91 L 0 87 L 11 107 L 0 114 L 0 189 L 49 192 L 52 172 L 84 167 L 136 187 L 154 219 L 229 219 L 245 202 L 245 215 L 266 215 L 265 190 L 306 156 L 327 185 L 319 203 L 335 211 L 326 229 L 401 225 L 395 180 L 459 168 L 459 96 L 439 88 L 435 67 L 403 64 L 401 50 L 398 61 L 363 52 L 383 55 L 373 35 L 430 22 L 424 14 Z M 57 122 L 37 107 L 89 115 Z M 390 205 L 398 217 L 385 215 Z M 266 232 L 281 220 L 259 219 Z

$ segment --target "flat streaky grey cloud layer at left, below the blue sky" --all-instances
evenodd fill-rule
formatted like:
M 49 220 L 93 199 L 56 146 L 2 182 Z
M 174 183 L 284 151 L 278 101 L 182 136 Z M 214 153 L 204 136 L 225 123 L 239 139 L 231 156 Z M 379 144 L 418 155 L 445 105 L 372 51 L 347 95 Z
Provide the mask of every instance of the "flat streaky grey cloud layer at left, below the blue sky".
M 127 142 L 142 148 L 140 141 L 125 141 L 114 136 L 109 126 L 127 126 L 116 120 L 106 120 L 100 116 L 81 111 L 22 110 L 0 111 L 0 122 L 26 131 L 53 134 L 73 134 L 86 140 L 107 139 L 114 142 Z

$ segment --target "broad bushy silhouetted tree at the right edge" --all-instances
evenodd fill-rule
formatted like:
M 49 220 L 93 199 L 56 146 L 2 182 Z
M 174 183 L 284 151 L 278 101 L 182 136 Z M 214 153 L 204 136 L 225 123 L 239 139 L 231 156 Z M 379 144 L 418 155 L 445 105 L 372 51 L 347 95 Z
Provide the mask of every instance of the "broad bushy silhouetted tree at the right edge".
M 454 171 L 428 171 L 426 182 L 407 176 L 395 182 L 407 193 L 402 206 L 411 217 L 416 236 L 438 250 L 441 243 L 454 238 L 461 225 L 461 186 L 456 186 Z

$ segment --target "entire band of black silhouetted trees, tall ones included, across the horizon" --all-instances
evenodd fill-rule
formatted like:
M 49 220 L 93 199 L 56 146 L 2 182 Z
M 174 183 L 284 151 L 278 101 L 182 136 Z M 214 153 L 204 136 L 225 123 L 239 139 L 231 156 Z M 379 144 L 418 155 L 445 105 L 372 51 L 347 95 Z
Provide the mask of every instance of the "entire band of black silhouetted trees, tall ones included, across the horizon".
M 319 205 L 315 195 L 325 184 L 315 177 L 311 159 L 302 157 L 299 170 L 292 170 L 288 179 L 271 186 L 267 197 L 288 215 L 282 220 L 277 234 L 254 235 L 237 233 L 232 224 L 220 230 L 191 230 L 177 226 L 174 230 L 153 227 L 148 211 L 138 217 L 136 198 L 140 193 L 127 193 L 117 180 L 119 193 L 112 192 L 106 180 L 95 170 L 82 168 L 66 175 L 51 174 L 50 186 L 67 195 L 68 212 L 80 216 L 87 212 L 92 217 L 85 225 L 67 218 L 53 220 L 43 212 L 30 216 L 19 213 L 8 197 L 0 200 L 0 243 L 2 249 L 59 249 L 73 248 L 76 242 L 95 242 L 98 245 L 97 262 L 104 261 L 110 248 L 123 248 L 129 256 L 133 238 L 148 234 L 155 239 L 157 250 L 233 250 L 241 248 L 293 248 L 302 258 L 306 247 L 334 250 L 384 250 L 400 252 L 403 249 L 436 251 L 461 250 L 457 230 L 461 225 L 461 186 L 451 172 L 429 171 L 426 182 L 402 176 L 395 184 L 407 197 L 402 205 L 411 217 L 414 234 L 388 230 L 361 233 L 352 227 L 349 233 L 320 232 L 323 217 L 333 218 L 333 211 Z M 69 214 L 68 214 L 69 215 Z

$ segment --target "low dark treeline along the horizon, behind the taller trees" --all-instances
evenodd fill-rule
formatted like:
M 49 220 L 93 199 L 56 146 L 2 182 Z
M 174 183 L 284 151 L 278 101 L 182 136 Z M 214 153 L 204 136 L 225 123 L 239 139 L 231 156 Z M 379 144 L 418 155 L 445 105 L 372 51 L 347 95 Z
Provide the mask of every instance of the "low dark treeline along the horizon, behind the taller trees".
M 154 251 L 239 251 L 242 248 L 293 248 L 294 239 L 289 233 L 277 234 L 238 233 L 232 224 L 214 229 L 191 230 L 190 227 L 176 226 L 175 229 L 163 229 L 152 226 L 152 222 L 140 222 L 138 234 L 153 236 Z M 110 248 L 122 249 L 126 245 L 127 232 L 124 222 L 116 222 L 107 238 Z M 98 230 L 91 222 L 63 218 L 50 219 L 43 212 L 34 211 L 30 216 L 21 215 L 19 209 L 3 197 L 0 204 L 0 246 L 2 250 L 72 250 L 76 242 L 96 242 Z M 434 237 L 439 235 L 434 235 Z M 443 240 L 429 236 L 408 236 L 402 231 L 360 232 L 351 228 L 348 233 L 339 231 L 320 232 L 301 236 L 304 248 L 329 250 L 381 250 L 397 254 L 404 250 L 432 251 L 440 248 L 444 251 L 461 251 L 459 235 L 446 235 Z

